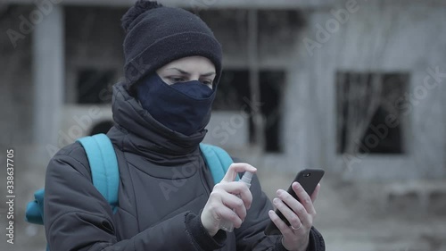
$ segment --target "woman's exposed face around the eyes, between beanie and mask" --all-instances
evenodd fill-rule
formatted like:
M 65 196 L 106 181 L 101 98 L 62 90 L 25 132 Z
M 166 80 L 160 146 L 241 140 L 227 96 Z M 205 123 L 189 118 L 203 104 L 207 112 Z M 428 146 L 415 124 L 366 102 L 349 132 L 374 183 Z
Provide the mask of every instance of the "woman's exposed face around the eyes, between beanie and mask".
M 168 85 L 178 82 L 198 80 L 212 88 L 215 79 L 215 66 L 202 56 L 188 56 L 172 61 L 156 71 Z

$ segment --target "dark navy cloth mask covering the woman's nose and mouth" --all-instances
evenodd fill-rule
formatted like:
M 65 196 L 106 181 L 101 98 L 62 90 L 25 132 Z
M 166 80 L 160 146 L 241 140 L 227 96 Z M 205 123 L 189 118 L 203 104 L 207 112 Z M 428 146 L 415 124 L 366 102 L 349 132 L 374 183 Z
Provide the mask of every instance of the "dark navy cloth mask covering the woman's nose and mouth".
M 198 80 L 168 85 L 153 74 L 136 86 L 136 95 L 156 121 L 190 136 L 210 121 L 215 91 Z

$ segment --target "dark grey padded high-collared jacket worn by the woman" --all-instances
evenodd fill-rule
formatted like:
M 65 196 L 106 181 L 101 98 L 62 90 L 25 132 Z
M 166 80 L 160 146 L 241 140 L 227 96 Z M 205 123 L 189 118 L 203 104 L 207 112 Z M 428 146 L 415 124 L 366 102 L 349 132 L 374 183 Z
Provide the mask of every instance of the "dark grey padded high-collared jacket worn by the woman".
M 113 90 L 115 126 L 108 132 L 120 166 L 116 213 L 91 181 L 86 153 L 78 143 L 62 148 L 45 180 L 45 232 L 52 251 L 70 250 L 285 250 L 280 237 L 264 235 L 268 197 L 252 180 L 252 207 L 239 229 L 213 238 L 200 213 L 214 184 L 199 143 L 162 126 L 118 84 Z M 314 228 L 311 251 L 323 251 Z

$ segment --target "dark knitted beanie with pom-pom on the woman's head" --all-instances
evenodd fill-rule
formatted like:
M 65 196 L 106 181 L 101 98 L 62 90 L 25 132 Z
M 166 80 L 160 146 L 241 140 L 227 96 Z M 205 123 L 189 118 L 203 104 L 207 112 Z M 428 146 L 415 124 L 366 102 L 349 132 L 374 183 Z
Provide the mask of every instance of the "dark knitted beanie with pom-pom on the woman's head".
M 221 46 L 211 29 L 194 13 L 139 0 L 122 17 L 124 73 L 130 88 L 145 75 L 186 56 L 201 55 L 221 75 Z

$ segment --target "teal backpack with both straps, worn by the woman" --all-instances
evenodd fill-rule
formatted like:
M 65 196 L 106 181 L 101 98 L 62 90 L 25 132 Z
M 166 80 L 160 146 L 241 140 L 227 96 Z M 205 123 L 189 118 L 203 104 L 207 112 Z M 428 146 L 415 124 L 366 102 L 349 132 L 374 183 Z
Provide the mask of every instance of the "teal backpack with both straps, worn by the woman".
M 105 134 L 96 134 L 78 138 L 78 142 L 87 153 L 93 185 L 111 205 L 113 212 L 116 212 L 119 205 L 120 170 L 110 138 Z M 225 176 L 229 165 L 233 163 L 232 158 L 219 146 L 200 144 L 200 149 L 211 170 L 214 183 L 219 183 Z M 238 175 L 236 179 L 238 180 Z M 35 200 L 29 202 L 25 213 L 27 222 L 44 224 L 44 196 L 45 190 L 43 188 L 34 193 Z

